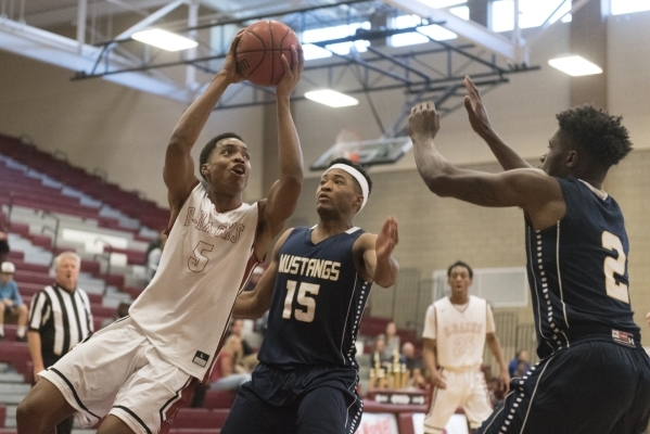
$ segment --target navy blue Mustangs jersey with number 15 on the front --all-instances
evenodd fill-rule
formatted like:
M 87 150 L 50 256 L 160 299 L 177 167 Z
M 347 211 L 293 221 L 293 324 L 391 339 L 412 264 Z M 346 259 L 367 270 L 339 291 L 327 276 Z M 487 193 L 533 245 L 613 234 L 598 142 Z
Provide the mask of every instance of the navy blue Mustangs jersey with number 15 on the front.
M 279 252 L 260 362 L 357 368 L 355 340 L 372 285 L 353 257 L 362 233 L 352 228 L 314 244 L 311 228 L 291 231 Z

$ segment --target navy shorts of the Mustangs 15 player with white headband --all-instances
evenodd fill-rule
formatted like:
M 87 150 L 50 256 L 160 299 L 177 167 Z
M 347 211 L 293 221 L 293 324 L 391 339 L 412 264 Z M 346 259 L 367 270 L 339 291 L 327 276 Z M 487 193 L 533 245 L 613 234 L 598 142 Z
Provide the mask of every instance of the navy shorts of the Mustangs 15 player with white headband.
M 357 371 L 259 363 L 234 399 L 221 434 L 352 434 L 361 421 Z

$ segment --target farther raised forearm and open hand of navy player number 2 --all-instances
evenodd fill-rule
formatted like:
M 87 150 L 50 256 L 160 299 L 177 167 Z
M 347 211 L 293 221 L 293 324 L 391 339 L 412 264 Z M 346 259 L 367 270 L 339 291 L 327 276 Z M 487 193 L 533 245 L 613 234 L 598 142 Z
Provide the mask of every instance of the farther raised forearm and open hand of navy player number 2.
M 464 97 L 464 107 L 468 111 L 470 125 L 474 132 L 487 143 L 504 170 L 533 167 L 528 162 L 514 152 L 514 150 L 492 128 L 489 117 L 487 117 L 487 111 L 481 99 L 481 92 L 479 92 L 479 88 L 476 88 L 469 76 L 464 77 L 464 88 L 468 91 L 468 94 Z

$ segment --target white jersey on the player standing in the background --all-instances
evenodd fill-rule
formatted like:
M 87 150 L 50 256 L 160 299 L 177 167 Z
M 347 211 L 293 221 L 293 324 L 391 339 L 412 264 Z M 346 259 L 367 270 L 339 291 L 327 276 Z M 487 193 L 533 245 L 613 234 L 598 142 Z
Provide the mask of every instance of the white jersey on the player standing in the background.
M 476 368 L 483 363 L 485 334 L 495 331 L 487 302 L 470 295 L 463 306 L 448 297 L 435 302 L 426 311 L 423 337 L 435 340 L 437 363 L 446 369 Z

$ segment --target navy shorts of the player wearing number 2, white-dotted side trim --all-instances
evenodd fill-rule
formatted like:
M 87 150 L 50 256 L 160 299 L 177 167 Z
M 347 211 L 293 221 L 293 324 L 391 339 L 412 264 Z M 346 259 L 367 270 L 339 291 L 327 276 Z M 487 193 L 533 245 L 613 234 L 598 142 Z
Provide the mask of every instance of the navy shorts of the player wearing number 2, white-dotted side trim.
M 480 434 L 640 434 L 650 417 L 650 359 L 611 340 L 582 341 L 510 383 Z

